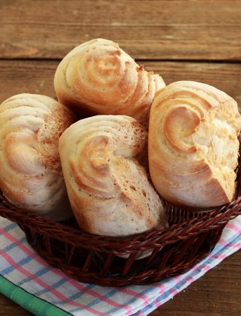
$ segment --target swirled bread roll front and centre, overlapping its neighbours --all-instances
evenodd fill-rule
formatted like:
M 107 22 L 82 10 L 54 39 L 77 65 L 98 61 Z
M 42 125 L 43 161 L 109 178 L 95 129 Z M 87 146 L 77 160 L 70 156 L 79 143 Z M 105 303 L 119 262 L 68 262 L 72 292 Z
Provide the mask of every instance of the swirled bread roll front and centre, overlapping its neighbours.
M 127 236 L 167 225 L 163 205 L 139 161 L 147 132 L 132 117 L 97 115 L 72 124 L 59 140 L 67 193 L 79 226 Z

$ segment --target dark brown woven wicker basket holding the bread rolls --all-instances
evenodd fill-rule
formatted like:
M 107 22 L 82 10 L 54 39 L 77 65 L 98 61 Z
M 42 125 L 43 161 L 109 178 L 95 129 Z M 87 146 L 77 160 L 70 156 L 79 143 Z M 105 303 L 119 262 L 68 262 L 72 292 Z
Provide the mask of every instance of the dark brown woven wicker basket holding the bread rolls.
M 125 238 L 87 234 L 74 218 L 48 221 L 13 207 L 2 194 L 0 216 L 18 223 L 31 247 L 71 278 L 102 286 L 148 284 L 184 273 L 213 249 L 227 222 L 241 214 L 240 185 L 233 202 L 209 212 L 163 204 L 168 228 Z M 149 256 L 135 260 L 141 251 Z

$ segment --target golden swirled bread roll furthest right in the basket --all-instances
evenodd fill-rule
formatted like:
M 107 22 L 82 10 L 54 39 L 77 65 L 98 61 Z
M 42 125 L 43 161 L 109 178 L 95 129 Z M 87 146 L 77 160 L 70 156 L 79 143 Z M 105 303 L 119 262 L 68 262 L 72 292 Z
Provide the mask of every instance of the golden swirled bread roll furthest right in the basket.
M 214 87 L 180 81 L 158 91 L 149 120 L 149 170 L 156 190 L 176 205 L 229 203 L 240 128 L 237 103 Z

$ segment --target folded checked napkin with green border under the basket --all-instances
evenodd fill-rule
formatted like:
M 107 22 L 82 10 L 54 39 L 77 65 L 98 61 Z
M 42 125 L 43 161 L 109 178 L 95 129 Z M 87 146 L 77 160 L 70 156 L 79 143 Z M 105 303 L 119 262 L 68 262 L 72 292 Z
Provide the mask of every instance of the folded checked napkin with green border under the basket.
M 229 221 L 215 249 L 193 269 L 149 286 L 76 282 L 39 258 L 16 223 L 0 217 L 0 292 L 35 315 L 147 315 L 241 249 L 241 216 Z

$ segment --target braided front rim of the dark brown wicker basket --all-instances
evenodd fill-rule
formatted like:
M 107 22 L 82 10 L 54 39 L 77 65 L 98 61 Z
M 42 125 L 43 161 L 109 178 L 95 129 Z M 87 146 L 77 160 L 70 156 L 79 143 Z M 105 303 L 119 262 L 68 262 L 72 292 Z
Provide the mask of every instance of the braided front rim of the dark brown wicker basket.
M 1 192 L 0 192 L 1 193 Z M 241 196 L 227 205 L 211 210 L 202 217 L 194 217 L 189 221 L 177 223 L 160 230 L 143 232 L 131 236 L 101 236 L 83 232 L 64 223 L 50 221 L 45 216 L 36 214 L 30 210 L 23 210 L 11 205 L 1 194 L 0 216 L 18 223 L 20 226 L 31 227 L 32 232 L 45 234 L 62 240 L 61 236 L 65 233 L 65 241 L 73 246 L 96 249 L 98 247 L 112 247 L 118 251 L 138 251 L 149 247 L 163 247 L 177 240 L 185 240 L 190 236 L 197 236 L 200 232 L 207 232 L 211 229 L 226 224 L 229 220 L 241 214 Z M 177 208 L 178 209 L 178 208 Z M 129 242 L 129 247 L 127 246 Z

